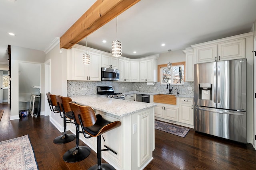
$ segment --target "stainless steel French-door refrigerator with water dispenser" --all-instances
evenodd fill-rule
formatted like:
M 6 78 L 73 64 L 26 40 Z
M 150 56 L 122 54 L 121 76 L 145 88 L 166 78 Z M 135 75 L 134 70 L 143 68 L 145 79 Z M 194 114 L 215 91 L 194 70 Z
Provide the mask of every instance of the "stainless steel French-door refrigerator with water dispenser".
M 194 129 L 247 142 L 246 59 L 194 65 Z

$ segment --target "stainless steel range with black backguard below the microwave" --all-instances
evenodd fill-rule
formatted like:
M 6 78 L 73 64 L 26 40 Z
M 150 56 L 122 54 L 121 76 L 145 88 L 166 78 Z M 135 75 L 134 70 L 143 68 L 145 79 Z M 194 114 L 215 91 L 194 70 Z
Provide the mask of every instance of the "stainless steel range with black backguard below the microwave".
M 114 86 L 97 86 L 97 94 L 105 95 L 107 98 L 125 99 L 125 94 L 115 93 Z

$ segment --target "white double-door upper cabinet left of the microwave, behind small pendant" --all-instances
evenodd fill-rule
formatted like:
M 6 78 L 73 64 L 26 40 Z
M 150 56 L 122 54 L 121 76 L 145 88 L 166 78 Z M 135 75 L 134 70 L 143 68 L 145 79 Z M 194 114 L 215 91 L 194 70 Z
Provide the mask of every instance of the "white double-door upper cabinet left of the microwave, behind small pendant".
M 86 50 L 73 47 L 68 55 L 68 80 L 101 81 L 101 54 L 88 51 L 90 64 L 82 63 Z

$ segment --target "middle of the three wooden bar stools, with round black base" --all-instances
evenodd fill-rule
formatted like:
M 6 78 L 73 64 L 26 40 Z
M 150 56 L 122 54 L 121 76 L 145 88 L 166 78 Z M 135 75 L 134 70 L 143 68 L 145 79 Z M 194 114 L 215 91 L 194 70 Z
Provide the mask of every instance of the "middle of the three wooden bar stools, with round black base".
M 68 118 L 67 123 L 73 123 L 71 122 L 71 120 L 73 120 L 74 118 L 69 106 L 69 102 L 72 102 L 72 99 L 69 97 L 62 97 L 62 96 L 56 96 L 56 99 L 57 99 L 58 106 L 63 111 L 63 113 L 65 113 L 64 114 L 65 117 Z M 63 160 L 65 162 L 70 162 L 70 163 L 79 162 L 89 156 L 91 149 L 86 146 L 79 146 L 79 135 L 80 133 L 76 129 L 76 147 L 64 153 Z

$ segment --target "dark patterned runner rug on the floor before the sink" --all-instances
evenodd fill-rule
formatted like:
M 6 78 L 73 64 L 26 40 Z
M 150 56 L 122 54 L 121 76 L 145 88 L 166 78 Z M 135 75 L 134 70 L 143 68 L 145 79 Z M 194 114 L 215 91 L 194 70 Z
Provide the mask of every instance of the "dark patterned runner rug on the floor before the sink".
M 155 129 L 171 133 L 180 137 L 185 137 L 188 134 L 189 129 L 186 127 L 180 127 L 172 125 L 170 123 L 164 123 L 162 121 L 155 120 Z

